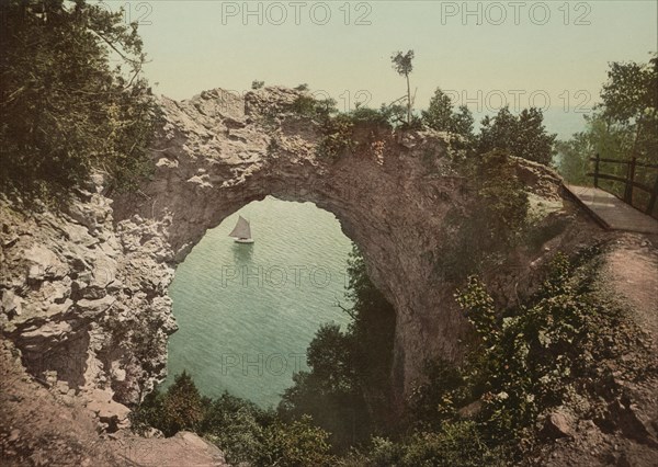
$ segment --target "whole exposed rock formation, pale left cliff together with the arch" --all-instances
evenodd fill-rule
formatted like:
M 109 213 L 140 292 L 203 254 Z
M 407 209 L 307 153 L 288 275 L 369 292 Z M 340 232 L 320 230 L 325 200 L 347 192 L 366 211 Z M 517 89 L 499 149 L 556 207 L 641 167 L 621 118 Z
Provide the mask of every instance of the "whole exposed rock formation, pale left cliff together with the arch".
M 156 173 L 136 194 L 110 195 L 97 175 L 57 215 L 2 204 L 2 333 L 31 373 L 56 372 L 69 388 L 107 388 L 115 400 L 137 401 L 164 375 L 174 265 L 207 229 L 266 195 L 333 213 L 361 247 L 397 312 L 400 395 L 426 357 L 460 357 L 465 323 L 435 255 L 449 235 L 446 215 L 458 215 L 473 193 L 445 143 L 364 125 L 354 129 L 352 153 L 324 158 L 322 129 L 293 112 L 298 95 L 269 88 L 246 98 L 222 90 L 162 98 Z M 540 205 L 561 207 L 551 171 L 532 163 L 518 171 Z M 497 271 L 507 277 L 501 297 L 526 287 L 535 259 L 517 261 L 507 276 Z

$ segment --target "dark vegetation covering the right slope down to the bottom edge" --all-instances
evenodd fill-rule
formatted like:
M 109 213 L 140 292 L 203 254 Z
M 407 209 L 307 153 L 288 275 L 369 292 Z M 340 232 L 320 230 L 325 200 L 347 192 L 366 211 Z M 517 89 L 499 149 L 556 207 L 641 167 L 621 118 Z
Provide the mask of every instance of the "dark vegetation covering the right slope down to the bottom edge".
M 637 327 L 599 288 L 601 254 L 598 247 L 570 259 L 556 254 L 537 293 L 509 309 L 498 308 L 472 276 L 455 295 L 478 337 L 468 357 L 458 367 L 428 362 L 407 425 L 388 438 L 373 437 L 348 465 L 527 462 L 542 443 L 568 435 L 559 431 L 568 423 L 555 425 L 556 414 L 597 419 L 622 392 L 620 380 L 649 377 L 620 364 L 624 354 L 643 360 L 650 350 L 638 345 Z M 575 402 L 582 399 L 602 402 Z

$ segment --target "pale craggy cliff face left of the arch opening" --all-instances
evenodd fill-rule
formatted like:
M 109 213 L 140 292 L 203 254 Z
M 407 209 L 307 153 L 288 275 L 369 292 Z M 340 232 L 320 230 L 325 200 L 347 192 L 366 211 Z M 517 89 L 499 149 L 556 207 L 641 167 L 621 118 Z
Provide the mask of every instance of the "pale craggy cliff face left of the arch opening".
M 172 253 L 162 223 L 114 225 L 102 190 L 94 176 L 58 214 L 0 204 L 0 326 L 44 383 L 134 402 L 166 375 Z

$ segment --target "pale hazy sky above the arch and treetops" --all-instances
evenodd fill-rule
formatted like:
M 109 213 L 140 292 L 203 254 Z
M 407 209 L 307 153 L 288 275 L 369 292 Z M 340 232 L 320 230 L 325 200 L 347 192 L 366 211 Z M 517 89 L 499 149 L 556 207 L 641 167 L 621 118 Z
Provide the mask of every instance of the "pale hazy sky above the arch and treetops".
M 538 106 L 565 124 L 598 101 L 609 62 L 658 49 L 656 0 L 102 3 L 139 22 L 147 78 L 177 100 L 262 80 L 378 107 L 406 92 L 390 55 L 412 49 L 417 107 L 440 87 L 476 114 Z

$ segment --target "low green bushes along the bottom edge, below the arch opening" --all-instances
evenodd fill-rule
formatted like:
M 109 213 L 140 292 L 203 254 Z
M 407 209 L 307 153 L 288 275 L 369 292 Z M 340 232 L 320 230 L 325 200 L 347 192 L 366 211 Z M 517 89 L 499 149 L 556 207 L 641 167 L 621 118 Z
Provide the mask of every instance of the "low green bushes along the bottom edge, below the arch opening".
M 148 395 L 131 412 L 131 421 L 139 434 L 151 426 L 166 436 L 194 431 L 216 444 L 231 464 L 332 465 L 329 433 L 314 425 L 310 417 L 286 423 L 272 411 L 229 394 L 215 400 L 202 397 L 185 372 L 164 394 Z

